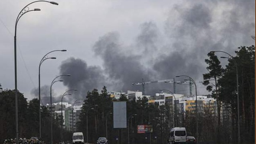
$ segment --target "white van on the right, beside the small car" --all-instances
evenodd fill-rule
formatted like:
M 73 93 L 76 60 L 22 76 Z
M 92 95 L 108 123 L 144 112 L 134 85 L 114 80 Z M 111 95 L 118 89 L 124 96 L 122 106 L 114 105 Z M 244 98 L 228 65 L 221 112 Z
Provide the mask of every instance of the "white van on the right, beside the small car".
M 175 127 L 170 130 L 168 137 L 169 144 L 186 144 L 186 128 Z

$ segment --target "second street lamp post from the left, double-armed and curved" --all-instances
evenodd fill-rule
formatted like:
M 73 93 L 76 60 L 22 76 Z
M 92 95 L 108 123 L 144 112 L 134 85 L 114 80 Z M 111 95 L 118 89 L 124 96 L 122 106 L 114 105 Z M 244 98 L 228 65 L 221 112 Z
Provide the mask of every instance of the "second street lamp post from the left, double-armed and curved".
M 53 50 L 51 52 L 56 52 L 56 51 L 62 51 L 65 52 L 67 50 Z M 39 138 L 42 138 L 42 133 L 41 133 L 41 93 L 40 93 L 40 67 L 41 64 L 48 59 L 56 59 L 55 57 L 50 57 L 48 58 L 48 54 L 50 54 L 51 52 L 48 52 L 46 55 L 44 55 L 44 57 L 41 59 L 40 63 L 39 63 L 39 68 L 38 68 L 38 98 L 39 98 Z

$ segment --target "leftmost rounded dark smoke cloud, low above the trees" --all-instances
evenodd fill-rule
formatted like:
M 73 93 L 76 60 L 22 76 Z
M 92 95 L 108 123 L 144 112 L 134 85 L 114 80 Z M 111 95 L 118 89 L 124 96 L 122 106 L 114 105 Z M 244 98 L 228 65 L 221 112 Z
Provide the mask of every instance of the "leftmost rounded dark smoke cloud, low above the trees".
M 81 98 L 86 96 L 88 91 L 94 88 L 101 90 L 106 84 L 102 69 L 98 66 L 87 66 L 84 60 L 79 58 L 68 58 L 60 66 L 60 74 L 71 74 L 63 76 L 64 86 L 69 89 L 78 89 L 78 94 L 72 98 Z

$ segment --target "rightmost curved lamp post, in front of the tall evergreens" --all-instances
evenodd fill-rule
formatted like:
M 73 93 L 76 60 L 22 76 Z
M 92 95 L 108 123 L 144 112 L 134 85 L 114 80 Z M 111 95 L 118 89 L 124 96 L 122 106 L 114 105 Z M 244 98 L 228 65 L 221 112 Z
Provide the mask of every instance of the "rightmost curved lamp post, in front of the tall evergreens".
M 234 60 L 235 62 L 235 65 L 236 65 L 236 93 L 237 93 L 237 120 L 238 120 L 238 144 L 240 144 L 241 142 L 241 138 L 240 138 L 240 110 L 239 110 L 239 83 L 238 83 L 238 65 L 237 65 L 237 62 L 236 60 L 234 59 L 233 56 L 231 56 L 229 53 L 227 52 L 224 52 L 224 51 L 211 51 L 213 53 L 215 52 L 223 52 L 225 54 L 228 54 L 231 58 L 233 58 L 232 60 Z M 223 57 L 221 56 L 220 58 L 227 58 L 227 57 Z M 230 60 L 230 58 L 228 58 Z

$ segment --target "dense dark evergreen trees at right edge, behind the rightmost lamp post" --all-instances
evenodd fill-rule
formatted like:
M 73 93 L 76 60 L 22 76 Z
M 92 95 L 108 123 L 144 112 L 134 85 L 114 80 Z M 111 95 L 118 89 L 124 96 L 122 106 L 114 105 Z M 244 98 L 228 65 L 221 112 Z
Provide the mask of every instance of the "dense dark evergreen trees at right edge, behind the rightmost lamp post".
M 229 59 L 226 72 L 219 80 L 220 95 L 225 103 L 230 104 L 232 115 L 236 118 L 236 121 L 234 118 L 232 119 L 233 130 L 237 131 L 239 118 L 242 142 L 245 140 L 252 142 L 255 140 L 255 47 L 239 47 L 236 54 L 236 57 Z M 239 79 L 239 116 L 237 116 L 236 66 Z M 250 135 L 249 138 L 248 134 Z M 232 137 L 233 140 L 236 140 L 236 133 Z

